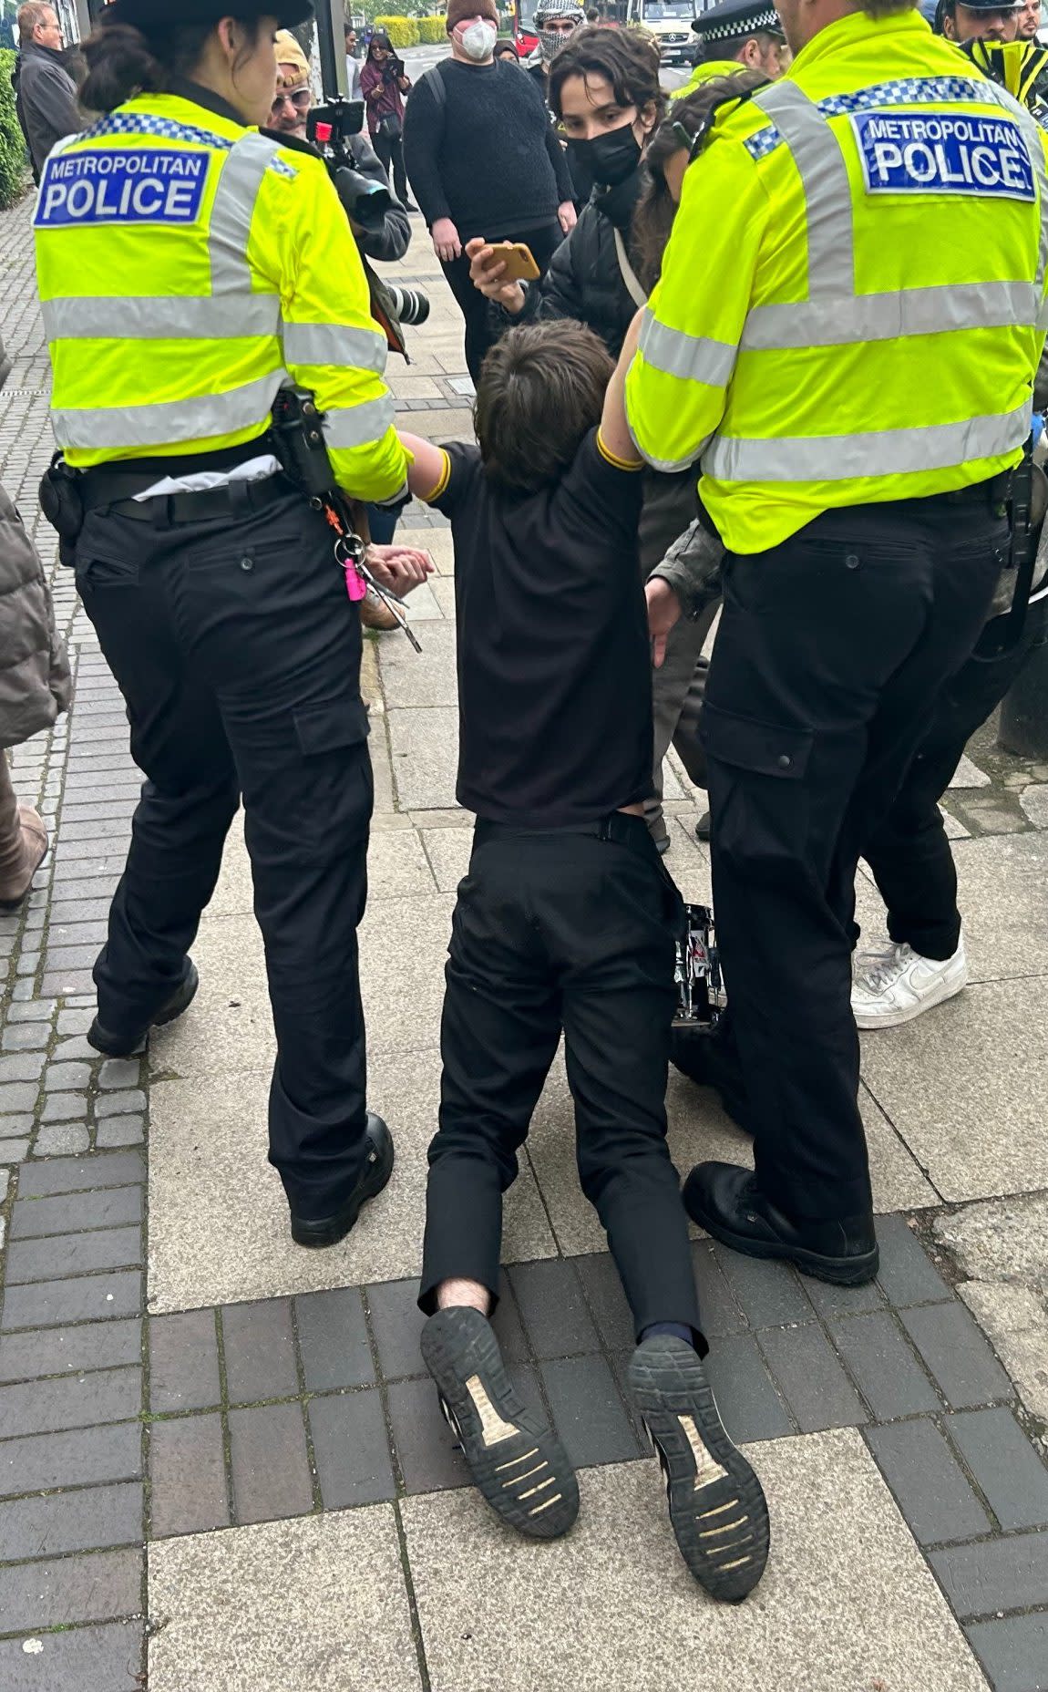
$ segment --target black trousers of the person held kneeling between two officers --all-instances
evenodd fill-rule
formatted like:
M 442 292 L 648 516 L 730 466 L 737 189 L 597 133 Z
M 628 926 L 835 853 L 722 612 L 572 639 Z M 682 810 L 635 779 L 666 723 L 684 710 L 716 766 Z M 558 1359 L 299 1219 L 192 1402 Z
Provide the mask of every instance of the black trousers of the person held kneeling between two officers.
M 581 1189 L 603 1223 L 636 1332 L 698 1301 L 666 1145 L 681 900 L 642 817 L 614 839 L 478 822 L 458 888 L 429 1145 L 419 1305 L 441 1281 L 499 1289 L 502 1195 L 517 1176 L 561 1030 Z M 705 1343 L 705 1342 L 703 1342 Z

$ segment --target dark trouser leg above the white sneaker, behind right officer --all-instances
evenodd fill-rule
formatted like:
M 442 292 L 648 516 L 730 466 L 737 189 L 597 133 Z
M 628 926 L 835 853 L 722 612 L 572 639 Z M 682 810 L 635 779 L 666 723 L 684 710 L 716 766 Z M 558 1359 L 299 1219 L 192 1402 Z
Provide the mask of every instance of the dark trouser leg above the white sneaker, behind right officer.
M 1006 621 L 987 623 L 987 651 Z M 1031 609 L 1011 651 L 972 655 L 947 682 L 887 817 L 862 848 L 887 905 L 887 932 L 921 958 L 952 958 L 960 944 L 957 866 L 938 802 L 969 739 L 1001 704 L 1040 634 L 1041 614 Z

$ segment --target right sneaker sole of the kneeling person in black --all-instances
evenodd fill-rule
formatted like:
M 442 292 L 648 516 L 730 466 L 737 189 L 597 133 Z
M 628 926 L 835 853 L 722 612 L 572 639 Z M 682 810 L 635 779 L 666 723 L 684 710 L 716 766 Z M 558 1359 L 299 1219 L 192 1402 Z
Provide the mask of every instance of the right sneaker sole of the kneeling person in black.
M 764 1574 L 771 1523 L 701 1359 L 685 1340 L 659 1335 L 634 1352 L 629 1384 L 663 1467 L 680 1553 L 710 1597 L 739 1604 Z

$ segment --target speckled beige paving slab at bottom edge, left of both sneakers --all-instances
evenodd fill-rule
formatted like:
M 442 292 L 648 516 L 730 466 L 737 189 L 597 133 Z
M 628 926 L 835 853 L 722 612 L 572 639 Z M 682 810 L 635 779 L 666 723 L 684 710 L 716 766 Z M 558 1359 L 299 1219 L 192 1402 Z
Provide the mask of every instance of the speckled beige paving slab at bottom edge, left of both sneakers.
M 421 1692 L 389 1504 L 149 1548 L 149 1692 Z

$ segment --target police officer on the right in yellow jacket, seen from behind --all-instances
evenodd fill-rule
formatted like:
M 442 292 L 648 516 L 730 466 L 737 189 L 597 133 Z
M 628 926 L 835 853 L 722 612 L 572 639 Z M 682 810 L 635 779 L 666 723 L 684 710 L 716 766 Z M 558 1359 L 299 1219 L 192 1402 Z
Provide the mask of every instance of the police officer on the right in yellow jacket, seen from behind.
M 779 12 L 793 66 L 686 171 L 627 409 L 649 462 L 701 462 L 729 555 L 703 738 L 756 1174 L 700 1164 L 685 1201 L 737 1250 L 860 1283 L 857 856 L 997 580 L 1048 195 L 1029 115 L 914 10 Z

